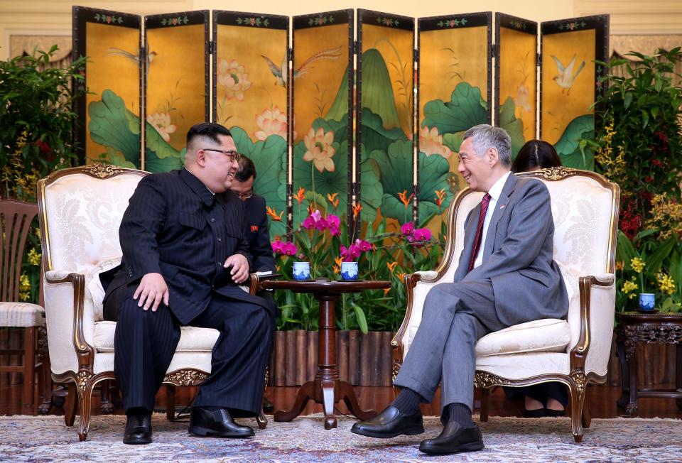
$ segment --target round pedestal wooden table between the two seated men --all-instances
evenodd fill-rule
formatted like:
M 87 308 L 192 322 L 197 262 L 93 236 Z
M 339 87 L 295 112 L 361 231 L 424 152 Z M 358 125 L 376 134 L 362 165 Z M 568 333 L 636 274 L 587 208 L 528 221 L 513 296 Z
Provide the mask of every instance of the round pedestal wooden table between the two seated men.
M 291 290 L 296 293 L 312 293 L 320 303 L 318 335 L 318 371 L 312 381 L 305 381 L 296 393 L 291 410 L 278 410 L 275 421 L 291 421 L 301 415 L 310 399 L 321 403 L 325 414 L 325 429 L 336 427 L 334 404 L 343 399 L 350 412 L 360 420 L 377 415 L 374 410 L 362 410 L 353 386 L 341 381 L 336 365 L 336 317 L 335 302 L 343 293 L 359 293 L 362 290 L 391 288 L 390 281 L 383 280 L 268 280 L 266 289 Z

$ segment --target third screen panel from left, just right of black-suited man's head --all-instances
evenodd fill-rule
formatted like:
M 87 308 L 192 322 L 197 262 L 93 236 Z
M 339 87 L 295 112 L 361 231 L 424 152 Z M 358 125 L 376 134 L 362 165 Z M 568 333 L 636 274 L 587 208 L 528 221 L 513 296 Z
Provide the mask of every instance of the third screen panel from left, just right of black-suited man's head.
M 288 27 L 287 16 L 213 11 L 213 120 L 254 161 L 254 192 L 281 217 L 271 236 L 286 233 Z

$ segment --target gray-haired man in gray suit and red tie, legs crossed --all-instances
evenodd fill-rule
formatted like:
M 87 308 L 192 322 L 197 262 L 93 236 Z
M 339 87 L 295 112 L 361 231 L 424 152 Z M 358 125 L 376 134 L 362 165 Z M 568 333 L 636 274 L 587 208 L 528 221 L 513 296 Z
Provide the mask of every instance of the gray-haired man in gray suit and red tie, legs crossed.
M 424 301 L 421 325 L 394 385 L 396 400 L 352 432 L 370 437 L 424 431 L 419 403 L 441 387 L 443 432 L 424 440 L 431 454 L 480 450 L 471 418 L 476 369 L 474 347 L 485 334 L 541 318 L 562 318 L 568 296 L 552 260 L 554 222 L 550 196 L 536 179 L 510 172 L 511 141 L 504 129 L 478 125 L 464 135 L 459 173 L 481 205 L 465 222 L 464 249 L 453 283 L 435 285 Z

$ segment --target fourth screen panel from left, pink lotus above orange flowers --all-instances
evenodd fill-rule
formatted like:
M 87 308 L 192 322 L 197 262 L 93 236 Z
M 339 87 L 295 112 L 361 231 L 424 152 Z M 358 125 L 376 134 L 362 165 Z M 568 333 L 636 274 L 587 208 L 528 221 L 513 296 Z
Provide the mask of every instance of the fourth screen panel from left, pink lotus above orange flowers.
M 293 17 L 294 228 L 311 201 L 351 213 L 353 26 L 353 10 Z

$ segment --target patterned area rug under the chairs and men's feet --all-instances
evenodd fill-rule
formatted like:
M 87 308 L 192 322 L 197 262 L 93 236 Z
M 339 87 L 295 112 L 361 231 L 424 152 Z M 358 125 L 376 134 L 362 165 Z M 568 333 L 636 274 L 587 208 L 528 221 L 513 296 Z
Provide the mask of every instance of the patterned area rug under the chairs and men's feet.
M 429 457 L 419 442 L 440 432 L 438 418 L 424 418 L 426 432 L 378 440 L 354 435 L 354 420 L 338 418 L 325 430 L 321 415 L 291 423 L 270 421 L 247 440 L 194 437 L 187 423 L 165 415 L 152 419 L 150 445 L 121 442 L 125 417 L 94 416 L 87 441 L 60 416 L 0 417 L 0 461 L 11 462 L 680 462 L 682 422 L 639 418 L 595 419 L 581 444 L 573 442 L 568 418 L 499 418 L 480 423 L 485 449 Z M 77 424 L 78 418 L 76 418 Z M 254 420 L 240 420 L 255 427 Z

